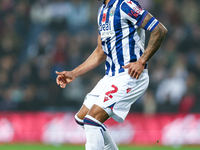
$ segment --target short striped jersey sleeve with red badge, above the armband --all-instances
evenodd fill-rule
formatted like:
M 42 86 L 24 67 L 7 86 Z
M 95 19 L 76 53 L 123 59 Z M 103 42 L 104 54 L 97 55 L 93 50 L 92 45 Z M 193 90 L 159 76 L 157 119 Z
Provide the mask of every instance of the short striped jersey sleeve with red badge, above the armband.
M 123 17 L 138 27 L 141 26 L 148 12 L 135 0 L 125 0 L 121 5 Z

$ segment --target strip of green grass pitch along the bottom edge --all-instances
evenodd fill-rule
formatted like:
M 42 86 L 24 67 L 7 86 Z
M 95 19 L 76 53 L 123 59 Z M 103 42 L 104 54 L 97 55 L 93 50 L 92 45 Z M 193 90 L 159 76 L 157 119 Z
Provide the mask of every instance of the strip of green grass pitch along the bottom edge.
M 120 145 L 119 150 L 199 150 L 200 146 L 126 146 Z M 85 150 L 83 145 L 43 145 L 43 144 L 0 144 L 0 150 Z

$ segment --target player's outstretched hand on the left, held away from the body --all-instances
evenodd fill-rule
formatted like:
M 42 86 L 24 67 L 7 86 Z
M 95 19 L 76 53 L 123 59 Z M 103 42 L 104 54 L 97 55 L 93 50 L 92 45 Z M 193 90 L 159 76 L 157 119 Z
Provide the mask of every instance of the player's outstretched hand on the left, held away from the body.
M 65 88 L 68 83 L 74 81 L 75 77 L 70 71 L 55 72 L 58 76 L 56 78 L 56 83 L 60 85 L 61 88 Z

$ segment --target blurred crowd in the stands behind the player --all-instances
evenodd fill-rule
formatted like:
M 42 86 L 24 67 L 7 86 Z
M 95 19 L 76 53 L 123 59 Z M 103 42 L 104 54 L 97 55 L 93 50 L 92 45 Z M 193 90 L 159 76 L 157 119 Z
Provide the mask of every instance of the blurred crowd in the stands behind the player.
M 200 112 L 200 1 L 138 0 L 168 29 L 149 61 L 150 84 L 131 111 Z M 104 64 L 61 89 L 97 45 L 97 0 L 0 1 L 0 110 L 77 111 Z M 149 33 L 147 33 L 147 42 Z M 147 44 L 146 42 L 146 44 Z

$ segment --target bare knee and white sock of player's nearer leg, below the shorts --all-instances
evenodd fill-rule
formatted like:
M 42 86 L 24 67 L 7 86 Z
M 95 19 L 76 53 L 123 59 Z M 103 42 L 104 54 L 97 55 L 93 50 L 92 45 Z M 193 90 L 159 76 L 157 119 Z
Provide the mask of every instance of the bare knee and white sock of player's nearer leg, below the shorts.
M 109 118 L 107 112 L 97 105 L 93 105 L 84 118 L 86 133 L 86 150 L 104 149 L 104 128 L 103 122 Z

